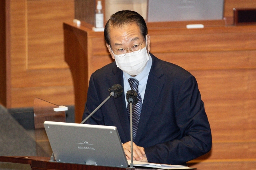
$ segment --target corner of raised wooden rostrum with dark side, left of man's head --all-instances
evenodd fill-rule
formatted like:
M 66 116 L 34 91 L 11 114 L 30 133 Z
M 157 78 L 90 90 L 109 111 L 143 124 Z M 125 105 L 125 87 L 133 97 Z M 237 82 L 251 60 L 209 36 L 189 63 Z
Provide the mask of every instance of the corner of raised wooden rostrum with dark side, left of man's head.
M 113 60 L 106 49 L 103 32 L 64 23 L 64 56 L 70 66 L 75 94 L 75 122 L 82 122 L 91 74 Z

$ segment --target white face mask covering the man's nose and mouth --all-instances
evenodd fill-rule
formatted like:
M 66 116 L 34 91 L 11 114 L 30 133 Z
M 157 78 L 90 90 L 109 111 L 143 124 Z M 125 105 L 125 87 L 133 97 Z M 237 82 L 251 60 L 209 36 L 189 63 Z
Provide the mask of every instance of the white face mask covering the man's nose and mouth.
M 144 70 L 146 64 L 148 63 L 149 57 L 146 47 L 141 49 L 139 53 L 126 53 L 124 57 L 119 57 L 118 55 L 114 54 L 112 50 L 111 51 L 114 54 L 117 67 L 131 76 L 136 76 Z

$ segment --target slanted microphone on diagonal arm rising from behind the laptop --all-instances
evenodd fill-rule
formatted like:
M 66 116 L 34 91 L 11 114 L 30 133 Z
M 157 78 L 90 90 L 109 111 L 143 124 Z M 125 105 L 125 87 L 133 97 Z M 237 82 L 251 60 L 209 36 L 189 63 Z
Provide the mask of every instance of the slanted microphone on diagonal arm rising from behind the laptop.
M 86 122 L 103 104 L 105 104 L 108 101 L 108 99 L 110 99 L 111 97 L 120 97 L 123 92 L 123 87 L 120 84 L 114 84 L 108 89 L 108 92 L 110 93 L 110 95 L 94 111 L 92 111 L 92 113 L 88 115 L 80 124 Z

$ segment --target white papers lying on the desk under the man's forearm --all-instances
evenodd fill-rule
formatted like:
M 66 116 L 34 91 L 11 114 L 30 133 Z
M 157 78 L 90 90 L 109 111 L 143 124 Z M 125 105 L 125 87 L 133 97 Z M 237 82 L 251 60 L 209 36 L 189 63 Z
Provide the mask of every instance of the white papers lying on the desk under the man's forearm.
M 131 161 L 128 160 L 128 164 L 130 165 Z M 140 161 L 133 161 L 134 166 L 142 166 L 142 167 L 148 167 L 153 169 L 165 169 L 165 170 L 184 170 L 184 169 L 196 169 L 196 168 L 190 168 L 188 166 L 183 165 L 169 165 L 169 164 L 154 164 L 149 162 L 140 162 Z

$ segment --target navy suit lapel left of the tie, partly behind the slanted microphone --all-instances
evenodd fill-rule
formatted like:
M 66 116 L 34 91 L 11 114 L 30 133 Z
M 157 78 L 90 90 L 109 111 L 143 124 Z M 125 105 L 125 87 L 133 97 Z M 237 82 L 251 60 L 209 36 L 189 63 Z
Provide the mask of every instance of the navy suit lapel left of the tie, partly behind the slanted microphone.
M 114 84 L 120 84 L 122 87 L 124 87 L 124 78 L 122 70 L 115 66 L 112 72 L 114 73 Z M 126 109 L 124 92 L 122 93 L 122 96 L 114 100 L 114 104 L 116 106 L 117 114 L 122 126 L 122 131 L 119 133 L 125 135 L 126 141 L 130 141 L 130 125 Z

